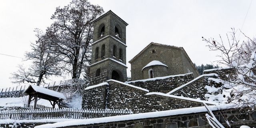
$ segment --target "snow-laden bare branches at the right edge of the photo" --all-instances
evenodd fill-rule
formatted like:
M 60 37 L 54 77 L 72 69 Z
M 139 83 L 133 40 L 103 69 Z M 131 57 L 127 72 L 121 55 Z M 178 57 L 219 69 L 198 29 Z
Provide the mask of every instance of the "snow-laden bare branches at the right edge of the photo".
M 250 40 L 251 44 L 255 44 L 255 40 L 251 40 L 247 36 L 245 37 Z M 218 57 L 220 57 L 220 60 L 218 60 L 220 64 L 229 68 L 234 68 L 237 71 L 236 76 L 228 75 L 228 79 L 224 83 L 226 84 L 226 87 L 229 85 L 229 87 L 232 88 L 229 102 L 242 106 L 255 106 L 256 49 L 245 51 L 245 42 L 240 42 L 236 38 L 236 31 L 234 28 L 232 28 L 232 32 L 226 34 L 226 40 L 223 40 L 221 36 L 219 41 L 214 40 L 214 38 L 202 38 L 203 41 L 207 43 L 210 50 L 221 52 L 221 55 L 218 55 Z M 247 53 L 249 51 L 250 54 Z

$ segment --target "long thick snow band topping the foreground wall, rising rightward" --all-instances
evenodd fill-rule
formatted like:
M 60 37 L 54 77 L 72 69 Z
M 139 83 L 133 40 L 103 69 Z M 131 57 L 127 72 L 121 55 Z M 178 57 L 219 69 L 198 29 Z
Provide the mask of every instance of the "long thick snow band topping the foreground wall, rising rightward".
M 233 107 L 234 107 L 234 104 L 208 106 L 208 108 L 212 111 L 219 110 L 219 109 L 228 109 Z M 172 115 L 180 115 L 180 114 L 191 114 L 191 113 L 199 113 L 199 112 L 208 112 L 208 110 L 206 109 L 205 106 L 201 106 L 201 107 L 182 108 L 182 109 L 174 109 L 174 110 L 166 110 L 166 111 L 158 111 L 158 112 L 146 112 L 146 113 L 138 113 L 138 114 L 130 114 L 130 115 L 122 115 L 122 116 L 110 116 L 110 117 L 102 117 L 102 118 L 64 121 L 64 122 L 57 122 L 54 124 L 43 124 L 40 126 L 35 126 L 34 128 L 56 128 L 56 127 L 65 127 L 65 126 L 99 124 L 99 123 L 107 123 L 107 122 L 137 120 L 137 119 L 144 119 L 144 118 L 156 118 L 156 117 L 164 117 L 164 116 L 172 116 Z

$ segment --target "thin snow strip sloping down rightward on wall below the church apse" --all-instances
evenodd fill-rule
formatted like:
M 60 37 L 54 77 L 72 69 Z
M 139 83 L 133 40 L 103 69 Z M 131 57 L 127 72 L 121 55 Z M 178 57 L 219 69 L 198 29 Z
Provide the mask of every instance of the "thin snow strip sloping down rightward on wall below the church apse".
M 175 95 L 170 95 L 170 94 L 164 94 L 164 93 L 161 93 L 161 92 L 149 92 L 146 95 L 148 95 L 148 96 L 150 96 L 150 95 L 160 95 L 160 96 L 166 96 L 166 97 L 177 98 L 177 99 L 181 99 L 181 100 L 189 100 L 189 101 L 212 104 L 212 105 L 220 104 L 220 103 L 217 103 L 217 102 L 210 102 L 210 101 L 206 101 L 206 100 L 199 100 L 199 99 L 188 98 L 188 97 L 183 97 L 183 96 L 175 96 Z

